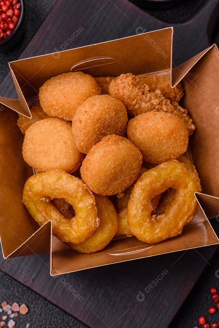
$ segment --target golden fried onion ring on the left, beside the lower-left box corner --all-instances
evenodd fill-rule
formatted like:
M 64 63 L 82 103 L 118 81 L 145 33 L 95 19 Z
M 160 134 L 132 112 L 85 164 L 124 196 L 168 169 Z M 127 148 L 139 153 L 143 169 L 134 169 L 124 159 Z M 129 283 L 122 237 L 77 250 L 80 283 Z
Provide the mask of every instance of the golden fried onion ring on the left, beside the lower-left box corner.
M 75 210 L 72 219 L 64 217 L 52 203 L 64 198 Z M 79 244 L 99 226 L 95 199 L 81 180 L 62 170 L 32 175 L 24 186 L 23 203 L 40 226 L 52 221 L 52 234 L 64 242 Z

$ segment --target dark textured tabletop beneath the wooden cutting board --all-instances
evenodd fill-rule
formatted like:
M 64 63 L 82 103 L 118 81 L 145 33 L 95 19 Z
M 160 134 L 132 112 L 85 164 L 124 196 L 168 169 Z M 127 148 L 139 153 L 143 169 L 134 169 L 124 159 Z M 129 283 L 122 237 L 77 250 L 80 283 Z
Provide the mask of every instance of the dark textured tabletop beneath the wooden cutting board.
M 4 77 L 9 72 L 8 62 L 16 60 L 19 57 L 55 2 L 56 0 L 26 1 L 25 34 L 19 45 L 13 51 L 4 54 L 4 57 L 0 59 L 0 82 L 3 81 Z M 140 1 L 133 0 L 132 2 L 139 4 Z M 156 8 L 151 9 L 151 7 L 149 8 L 144 1 L 141 1 L 140 7 L 160 20 L 168 23 L 178 23 L 185 21 L 201 3 L 202 0 L 184 1 L 183 4 L 180 4 L 173 9 L 170 9 L 169 5 L 161 5 L 160 7 L 157 5 Z M 213 42 L 217 45 L 219 44 L 219 24 L 215 28 L 212 39 L 212 43 Z M 217 270 L 219 269 L 219 253 L 214 256 L 209 264 L 210 265 L 193 288 L 185 305 L 172 322 L 171 328 L 192 328 L 198 325 L 197 318 L 201 315 L 206 315 L 208 322 L 219 320 L 218 314 L 208 314 L 208 307 L 212 305 L 209 288 L 215 286 L 219 289 L 219 275 L 217 274 Z M 196 270 L 193 263 L 191 263 L 191 270 Z M 30 323 L 30 327 L 36 328 L 85 327 L 82 323 L 70 317 L 42 297 L 36 295 L 13 278 L 4 273 L 0 275 L 0 278 L 0 303 L 4 300 L 7 300 L 9 303 L 16 301 L 19 304 L 26 303 L 29 307 L 28 314 L 16 320 L 16 327 L 25 327 L 26 323 Z M 159 306 L 162 306 L 162 299 L 157 300 L 157 308 Z M 156 312 L 157 309 L 155 308 L 154 311 Z

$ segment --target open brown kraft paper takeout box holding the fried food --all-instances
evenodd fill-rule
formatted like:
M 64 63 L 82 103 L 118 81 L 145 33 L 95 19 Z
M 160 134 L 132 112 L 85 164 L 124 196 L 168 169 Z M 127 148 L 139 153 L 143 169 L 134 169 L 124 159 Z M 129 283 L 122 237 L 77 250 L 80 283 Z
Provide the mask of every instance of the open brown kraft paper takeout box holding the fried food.
M 213 45 L 171 70 L 172 35 L 173 29 L 167 28 L 9 64 L 19 99 L 0 97 L 0 236 L 5 258 L 50 252 L 50 273 L 57 275 L 219 243 L 208 220 L 219 213 L 218 49 Z M 124 237 L 112 240 L 97 253 L 80 254 L 52 237 L 51 221 L 40 228 L 29 215 L 22 191 L 33 171 L 22 157 L 23 135 L 16 125 L 16 112 L 31 117 L 27 102 L 38 101 L 39 87 L 52 76 L 78 70 L 92 76 L 156 72 L 171 74 L 173 86 L 183 81 L 181 104 L 196 125 L 189 144 L 203 194 L 196 194 L 198 213 L 184 227 L 182 236 L 155 245 Z

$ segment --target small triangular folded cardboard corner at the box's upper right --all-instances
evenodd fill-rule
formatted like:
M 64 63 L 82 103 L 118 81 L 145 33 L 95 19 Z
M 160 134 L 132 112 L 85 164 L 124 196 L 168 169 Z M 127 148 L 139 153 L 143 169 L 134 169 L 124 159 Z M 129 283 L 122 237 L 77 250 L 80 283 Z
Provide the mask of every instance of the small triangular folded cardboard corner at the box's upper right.
M 190 58 L 189 60 L 182 63 L 181 65 L 175 66 L 174 68 L 172 68 L 172 71 L 171 71 L 171 86 L 175 87 L 177 85 L 177 83 L 179 83 L 184 78 L 184 76 L 190 71 L 190 69 L 199 61 L 199 59 L 202 58 L 214 46 L 216 46 L 216 45 L 213 44 L 209 48 L 207 48 L 207 49 L 203 50 L 202 52 L 198 53 L 197 55 Z

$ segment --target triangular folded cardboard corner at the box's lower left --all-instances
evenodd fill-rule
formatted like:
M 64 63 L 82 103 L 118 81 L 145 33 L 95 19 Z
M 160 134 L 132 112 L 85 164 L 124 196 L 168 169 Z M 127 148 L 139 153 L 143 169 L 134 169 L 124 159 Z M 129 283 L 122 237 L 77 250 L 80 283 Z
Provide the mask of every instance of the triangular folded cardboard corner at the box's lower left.
M 3 251 L 4 258 L 37 255 L 43 253 L 50 253 L 52 236 L 51 221 L 45 223 L 40 227 L 30 238 L 24 241 L 20 247 L 15 249 L 10 254 L 5 254 Z M 1 240 L 2 245 L 2 240 Z

